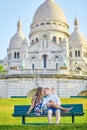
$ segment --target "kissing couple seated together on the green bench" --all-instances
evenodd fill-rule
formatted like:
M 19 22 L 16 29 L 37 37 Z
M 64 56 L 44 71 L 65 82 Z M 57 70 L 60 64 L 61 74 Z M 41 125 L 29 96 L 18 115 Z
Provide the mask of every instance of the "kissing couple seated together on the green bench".
M 52 123 L 52 114 L 56 115 L 56 123 L 59 124 L 61 111 L 68 112 L 72 109 L 72 107 L 64 108 L 61 106 L 61 101 L 55 94 L 54 88 L 37 88 L 36 94 L 32 97 L 31 103 L 32 104 L 27 111 L 27 114 L 29 114 L 32 109 L 34 109 L 34 113 L 37 116 L 47 114 L 49 123 Z

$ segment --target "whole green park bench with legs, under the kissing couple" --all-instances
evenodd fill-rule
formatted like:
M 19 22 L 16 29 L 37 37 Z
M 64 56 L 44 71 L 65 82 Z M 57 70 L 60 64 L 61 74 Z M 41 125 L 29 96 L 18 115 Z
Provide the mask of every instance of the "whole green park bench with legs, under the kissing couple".
M 62 104 L 61 106 L 68 108 L 73 107 L 72 110 L 70 110 L 68 113 L 61 112 L 61 116 L 72 117 L 72 123 L 75 122 L 75 116 L 83 116 L 83 105 L 82 104 Z M 22 117 L 22 124 L 25 124 L 25 117 L 38 117 L 34 114 L 34 111 L 32 110 L 30 114 L 26 114 L 30 105 L 15 105 L 14 106 L 14 113 L 12 114 L 14 117 Z M 53 115 L 55 116 L 55 115 Z M 41 117 L 47 117 L 47 115 L 41 115 Z M 35 124 L 35 123 L 33 123 Z

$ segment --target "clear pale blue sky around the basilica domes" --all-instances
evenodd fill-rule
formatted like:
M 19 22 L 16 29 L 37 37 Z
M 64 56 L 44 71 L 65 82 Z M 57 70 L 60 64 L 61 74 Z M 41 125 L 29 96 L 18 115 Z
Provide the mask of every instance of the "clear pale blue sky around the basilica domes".
M 22 32 L 29 43 L 30 24 L 37 8 L 45 0 L 0 0 L 0 60 L 7 54 L 12 36 L 17 32 L 17 21 L 22 20 Z M 74 19 L 79 21 L 79 30 L 87 39 L 87 0 L 55 0 L 66 16 L 70 34 Z

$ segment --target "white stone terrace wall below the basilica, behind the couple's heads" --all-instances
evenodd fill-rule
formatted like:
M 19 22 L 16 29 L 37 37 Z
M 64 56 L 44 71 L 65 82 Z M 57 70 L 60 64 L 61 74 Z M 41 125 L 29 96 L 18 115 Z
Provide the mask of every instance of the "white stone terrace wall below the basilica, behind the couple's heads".
M 70 75 L 4 75 L 0 76 L 0 97 L 29 96 L 37 87 L 54 87 L 59 97 L 76 96 L 87 91 L 87 76 Z

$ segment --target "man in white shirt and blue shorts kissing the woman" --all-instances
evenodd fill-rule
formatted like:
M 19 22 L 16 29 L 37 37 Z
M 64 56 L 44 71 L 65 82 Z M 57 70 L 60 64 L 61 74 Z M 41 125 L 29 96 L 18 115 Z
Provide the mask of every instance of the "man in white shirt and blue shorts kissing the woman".
M 43 106 L 48 107 L 48 121 L 52 123 L 52 114 L 56 114 L 56 123 L 59 124 L 60 122 L 60 112 L 61 110 L 64 112 L 68 112 L 72 109 L 71 108 L 63 108 L 61 107 L 61 101 L 59 97 L 52 92 L 50 88 L 44 88 L 44 95 L 46 98 L 43 100 Z

